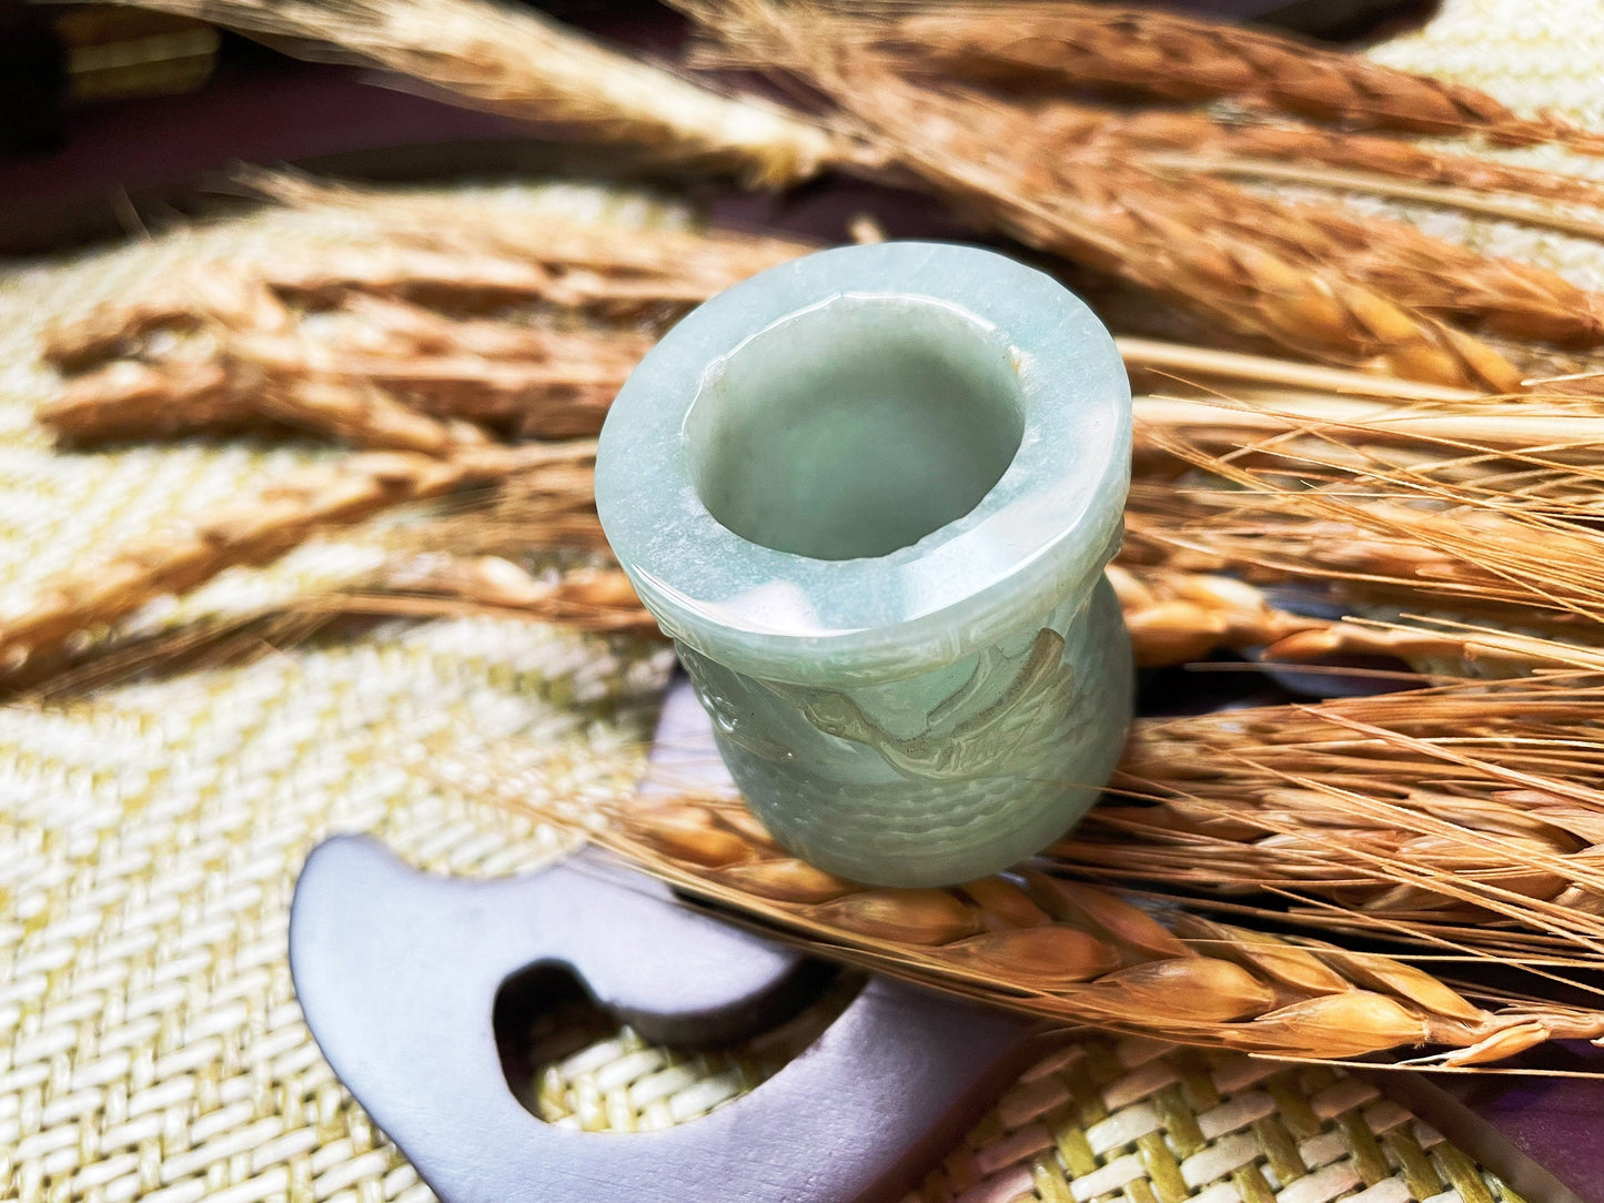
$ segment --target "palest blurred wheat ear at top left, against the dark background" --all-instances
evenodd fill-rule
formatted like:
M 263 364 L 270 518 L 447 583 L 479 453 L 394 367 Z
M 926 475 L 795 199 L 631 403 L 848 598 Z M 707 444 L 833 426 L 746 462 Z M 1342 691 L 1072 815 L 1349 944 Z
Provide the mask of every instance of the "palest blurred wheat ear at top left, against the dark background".
M 728 96 L 491 0 L 127 0 L 260 37 L 308 59 L 382 67 L 467 107 L 783 186 L 860 151 L 800 114 Z

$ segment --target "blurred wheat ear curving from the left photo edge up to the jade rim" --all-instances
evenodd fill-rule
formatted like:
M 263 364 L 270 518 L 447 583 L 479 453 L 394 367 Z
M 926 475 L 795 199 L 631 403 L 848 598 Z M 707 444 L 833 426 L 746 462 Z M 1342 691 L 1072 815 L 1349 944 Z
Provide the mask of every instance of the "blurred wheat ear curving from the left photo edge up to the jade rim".
M 0 622 L 0 666 L 22 669 L 82 630 L 115 622 L 154 598 L 189 592 L 226 568 L 271 563 L 318 531 L 465 486 L 584 464 L 593 454 L 593 443 L 476 446 L 444 459 L 369 452 L 305 468 L 253 497 L 132 541 L 103 563 L 48 579 L 26 611 Z

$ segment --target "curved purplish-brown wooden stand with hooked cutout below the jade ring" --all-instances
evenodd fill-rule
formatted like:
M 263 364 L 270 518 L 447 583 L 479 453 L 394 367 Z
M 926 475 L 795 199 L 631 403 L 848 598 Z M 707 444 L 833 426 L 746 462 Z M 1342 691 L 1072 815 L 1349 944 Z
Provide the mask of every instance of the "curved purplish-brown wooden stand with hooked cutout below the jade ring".
M 661 1132 L 553 1128 L 502 1076 L 502 983 L 558 964 L 653 1041 L 755 1035 L 807 962 L 581 857 L 472 882 L 366 837 L 308 860 L 290 967 L 335 1073 L 448 1203 L 892 1200 L 1041 1049 L 1019 1019 L 871 980 L 751 1094 Z

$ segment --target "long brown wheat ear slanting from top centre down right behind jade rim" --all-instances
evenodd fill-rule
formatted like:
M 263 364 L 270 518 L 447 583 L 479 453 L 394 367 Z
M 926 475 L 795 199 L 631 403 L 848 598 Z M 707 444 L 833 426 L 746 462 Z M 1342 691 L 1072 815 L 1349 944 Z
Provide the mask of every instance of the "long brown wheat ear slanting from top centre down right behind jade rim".
M 1059 162 L 1028 109 L 978 93 L 921 87 L 850 56 L 824 18 L 739 0 L 728 37 L 805 64 L 810 82 L 863 120 L 898 164 L 977 220 L 1105 269 L 1314 358 L 1404 377 L 1514 391 L 1521 372 L 1474 337 L 1415 313 L 1307 247 L 1285 207 L 1222 181 L 1198 196 L 1108 159 Z M 720 10 L 720 18 L 725 10 Z M 757 34 L 751 34 L 751 29 Z M 1195 181 L 1193 181 L 1195 183 Z M 1240 218 L 1222 226 L 1221 217 Z M 1262 228 L 1274 217 L 1277 228 Z

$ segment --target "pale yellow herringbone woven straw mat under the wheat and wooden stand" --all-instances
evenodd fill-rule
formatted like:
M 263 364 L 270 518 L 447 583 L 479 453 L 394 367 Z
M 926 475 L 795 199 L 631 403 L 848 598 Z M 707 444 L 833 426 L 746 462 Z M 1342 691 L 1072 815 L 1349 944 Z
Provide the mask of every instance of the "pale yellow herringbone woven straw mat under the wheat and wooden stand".
M 1450 0 L 1376 56 L 1604 128 L 1604 14 L 1591 0 Z M 624 228 L 685 220 L 600 189 L 497 196 L 512 218 L 555 205 Z M 1593 245 L 1432 220 L 1604 286 Z M 37 354 L 43 322 L 176 258 L 351 233 L 261 213 L 0 277 L 0 614 L 64 566 L 330 454 L 239 441 L 58 454 L 30 420 L 53 387 Z M 380 555 L 371 531 L 316 542 L 135 626 L 260 606 Z M 557 832 L 443 789 L 435 749 L 464 762 L 481 746 L 537 749 L 523 789 L 576 807 L 618 796 L 640 776 L 667 670 L 656 648 L 452 619 L 0 707 L 0 1198 L 427 1200 L 302 1022 L 286 961 L 302 860 L 332 831 L 369 831 L 438 871 L 550 861 L 566 850 Z M 590 1129 L 680 1123 L 773 1071 L 770 1054 L 707 1060 L 618 1031 L 549 1065 L 529 1102 Z M 1513 1198 L 1359 1079 L 1102 1039 L 1027 1073 L 921 1190 L 954 1197 Z

